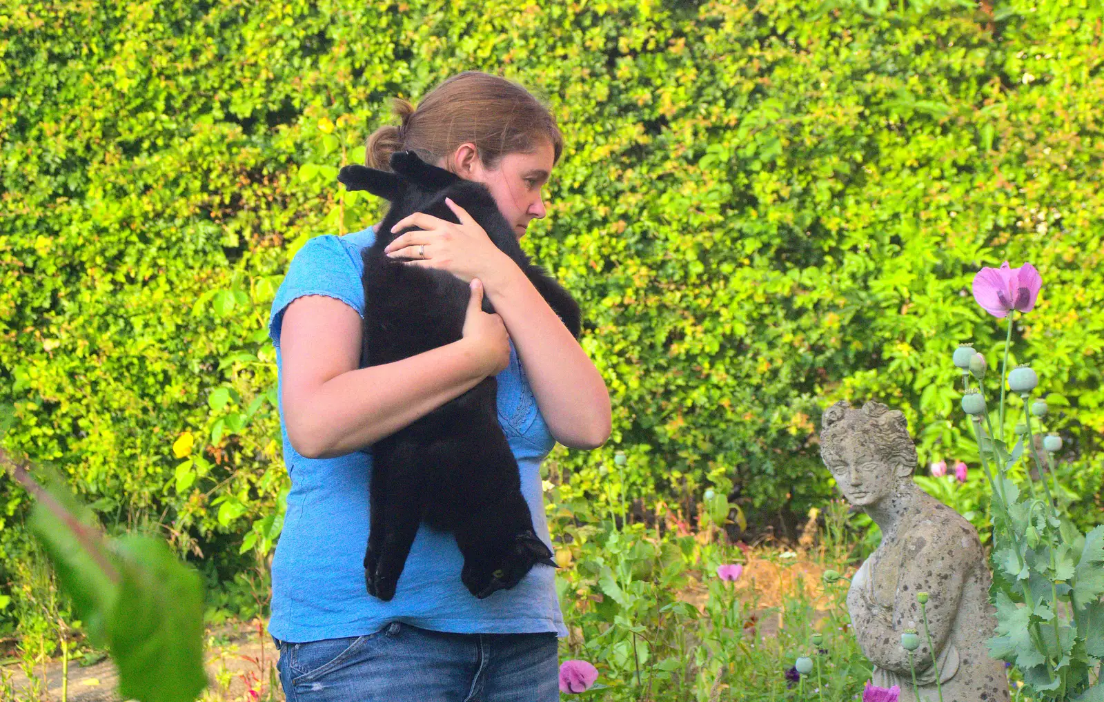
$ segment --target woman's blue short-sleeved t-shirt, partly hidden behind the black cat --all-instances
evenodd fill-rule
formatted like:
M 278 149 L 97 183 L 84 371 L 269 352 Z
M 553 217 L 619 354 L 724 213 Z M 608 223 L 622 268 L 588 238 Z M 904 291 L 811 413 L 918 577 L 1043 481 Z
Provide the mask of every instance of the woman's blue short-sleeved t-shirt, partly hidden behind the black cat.
M 279 336 L 284 310 L 296 298 L 325 295 L 364 315 L 361 249 L 374 241 L 371 228 L 346 236 L 319 236 L 296 254 L 273 300 L 268 331 L 283 373 Z M 325 339 L 320 340 L 325 343 Z M 521 491 L 537 534 L 551 546 L 540 465 L 555 440 L 510 345 L 510 365 L 499 373 L 498 419 L 521 470 Z M 566 636 L 554 585 L 554 570 L 533 567 L 518 585 L 476 599 L 460 582 L 464 557 L 449 532 L 423 524 L 414 539 L 399 588 L 391 602 L 364 589 L 364 547 L 369 529 L 372 457 L 354 451 L 337 458 L 300 456 L 287 437 L 280 397 L 284 460 L 291 478 L 284 531 L 273 560 L 272 619 L 268 629 L 285 641 L 361 636 L 391 621 L 460 634 Z

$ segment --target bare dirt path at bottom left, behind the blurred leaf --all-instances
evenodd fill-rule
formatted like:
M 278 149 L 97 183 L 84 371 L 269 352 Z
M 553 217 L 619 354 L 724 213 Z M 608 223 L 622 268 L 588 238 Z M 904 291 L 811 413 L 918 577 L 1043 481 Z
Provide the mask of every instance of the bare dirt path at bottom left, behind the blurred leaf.
M 255 702 L 256 700 L 283 700 L 279 684 L 273 698 L 268 696 L 268 670 L 274 669 L 276 650 L 267 636 L 258 640 L 256 625 L 226 624 L 208 629 L 205 636 L 203 660 L 210 684 L 201 696 L 208 702 L 232 702 L 236 700 Z M 261 668 L 262 645 L 264 646 L 264 670 Z M 0 696 L 3 696 L 4 677 L 10 677 L 10 684 L 15 689 L 12 702 L 30 700 L 49 700 L 60 702 L 62 699 L 62 662 L 60 659 L 49 661 L 45 666 L 45 690 L 42 688 L 42 667 L 34 667 L 34 677 L 29 680 L 19 666 L 0 668 Z M 118 673 L 109 658 L 98 663 L 82 668 L 74 661 L 68 666 L 67 702 L 124 702 L 117 687 Z M 38 687 L 40 696 L 35 696 Z M 258 698 L 250 694 L 250 690 L 258 692 Z M 9 702 L 3 700 L 3 702 Z

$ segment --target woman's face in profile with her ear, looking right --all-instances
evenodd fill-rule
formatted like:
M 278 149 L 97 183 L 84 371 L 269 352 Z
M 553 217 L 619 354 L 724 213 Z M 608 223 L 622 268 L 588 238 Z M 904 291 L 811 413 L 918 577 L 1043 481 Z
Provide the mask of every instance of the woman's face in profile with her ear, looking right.
M 552 173 L 554 159 L 552 143 L 542 139 L 532 153 L 508 153 L 495 169 L 488 169 L 478 158 L 471 158 L 460 160 L 457 170 L 463 178 L 487 185 L 502 216 L 521 238 L 529 223 L 543 217 L 546 212 L 542 190 Z

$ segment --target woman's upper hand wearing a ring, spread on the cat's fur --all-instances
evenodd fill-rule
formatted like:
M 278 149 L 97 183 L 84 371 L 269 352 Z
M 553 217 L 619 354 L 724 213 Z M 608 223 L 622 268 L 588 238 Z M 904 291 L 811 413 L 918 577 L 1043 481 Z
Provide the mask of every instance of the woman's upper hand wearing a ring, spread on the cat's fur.
M 421 228 L 396 237 L 383 249 L 384 253 L 411 266 L 447 270 L 465 283 L 479 278 L 490 287 L 509 257 L 495 246 L 487 232 L 464 208 L 448 198 L 445 203 L 456 213 L 459 224 L 415 212 L 400 220 L 391 231 L 411 226 Z

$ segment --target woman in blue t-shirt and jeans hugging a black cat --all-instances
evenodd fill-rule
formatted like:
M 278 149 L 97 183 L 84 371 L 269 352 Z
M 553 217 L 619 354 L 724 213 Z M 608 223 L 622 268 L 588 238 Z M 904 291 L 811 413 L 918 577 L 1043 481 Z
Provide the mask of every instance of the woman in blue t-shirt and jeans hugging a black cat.
M 368 141 L 365 161 L 392 152 L 485 183 L 522 236 L 545 214 L 541 189 L 562 149 L 548 110 L 524 88 L 481 73 L 456 75 L 402 124 Z M 463 339 L 402 361 L 358 368 L 360 249 L 370 227 L 319 236 L 300 249 L 273 301 L 284 456 L 291 478 L 273 562 L 269 630 L 280 682 L 296 700 L 558 699 L 556 636 L 566 629 L 552 568 L 479 600 L 459 578 L 454 536 L 423 525 L 391 602 L 364 589 L 372 458 L 367 447 L 475 386 L 498 381 L 498 413 L 521 471 L 538 535 L 549 543 L 540 462 L 556 440 L 595 448 L 609 436 L 602 376 L 521 270 L 456 208 L 461 224 L 425 214 L 389 255 L 469 281 Z M 481 311 L 486 295 L 496 315 Z

